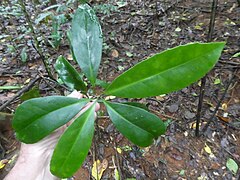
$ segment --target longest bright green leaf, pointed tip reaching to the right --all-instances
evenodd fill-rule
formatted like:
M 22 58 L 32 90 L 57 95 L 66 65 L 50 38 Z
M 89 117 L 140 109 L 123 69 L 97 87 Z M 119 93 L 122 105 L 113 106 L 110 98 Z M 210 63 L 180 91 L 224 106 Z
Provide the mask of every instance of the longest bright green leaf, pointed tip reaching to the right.
M 143 98 L 180 90 L 213 68 L 224 45 L 191 43 L 156 54 L 117 77 L 105 93 Z

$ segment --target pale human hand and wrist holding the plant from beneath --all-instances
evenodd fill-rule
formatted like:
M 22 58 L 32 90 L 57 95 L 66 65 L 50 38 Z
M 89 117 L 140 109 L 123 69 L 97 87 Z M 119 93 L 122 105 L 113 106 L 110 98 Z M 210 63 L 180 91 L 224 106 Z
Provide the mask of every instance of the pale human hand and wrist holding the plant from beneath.
M 81 99 L 83 95 L 77 91 L 73 91 L 68 97 Z M 86 111 L 92 103 L 88 103 L 80 113 Z M 100 105 L 96 103 L 95 113 L 99 110 Z M 95 115 L 96 117 L 96 115 Z M 67 126 L 72 123 L 70 121 L 66 125 L 58 128 L 49 136 L 34 144 L 21 143 L 18 160 L 6 176 L 5 180 L 55 180 L 57 177 L 50 172 L 50 160 L 54 148 L 63 134 Z

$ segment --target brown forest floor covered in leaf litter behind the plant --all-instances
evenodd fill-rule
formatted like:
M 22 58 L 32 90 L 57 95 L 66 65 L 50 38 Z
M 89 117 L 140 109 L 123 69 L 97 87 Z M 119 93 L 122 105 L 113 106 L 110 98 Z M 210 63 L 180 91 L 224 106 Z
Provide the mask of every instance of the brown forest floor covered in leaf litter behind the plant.
M 207 41 L 210 1 L 91 2 L 93 6 L 103 3 L 112 4 L 116 9 L 113 8 L 109 14 L 97 11 L 104 34 L 99 79 L 112 81 L 137 62 L 168 48 Z M 14 9 L 11 4 L 1 5 L 0 13 L 7 11 L 6 7 Z M 39 5 L 36 8 L 27 4 L 31 18 L 36 18 L 46 7 Z M 41 96 L 59 95 L 65 91 L 46 77 L 41 57 L 27 32 L 25 18 L 1 15 L 0 22 L 0 87 L 26 87 L 40 76 L 34 87 L 39 89 Z M 41 24 L 36 27 L 38 37 L 49 36 L 51 26 Z M 61 28 L 66 30 L 68 25 Z M 240 170 L 235 174 L 226 166 L 229 158 L 240 166 L 240 74 L 234 75 L 239 70 L 240 58 L 232 57 L 240 51 L 240 7 L 236 0 L 219 0 L 213 41 L 226 41 L 227 44 L 219 62 L 206 78 L 203 125 L 211 118 L 232 76 L 234 79 L 207 131 L 195 137 L 199 82 L 171 94 L 135 99 L 147 104 L 164 121 L 170 121 L 166 134 L 150 147 L 139 148 L 126 140 L 104 115 L 97 121 L 91 151 L 75 179 L 92 179 L 91 169 L 97 159 L 108 164 L 102 179 L 114 179 L 114 169 L 118 170 L 121 179 L 239 179 Z M 24 59 L 23 47 L 27 47 L 25 63 L 21 60 L 21 56 Z M 58 49 L 49 44 L 42 44 L 42 47 L 52 64 L 61 54 L 72 60 L 65 34 Z M 19 91 L 21 89 L 0 90 L 0 106 Z M 14 113 L 21 102 L 18 96 L 1 111 Z M 11 119 L 11 115 L 5 120 L 0 119 L 0 156 L 1 162 L 6 163 L 5 167 L 0 165 L 0 179 L 11 169 L 19 149 L 19 142 L 10 127 Z

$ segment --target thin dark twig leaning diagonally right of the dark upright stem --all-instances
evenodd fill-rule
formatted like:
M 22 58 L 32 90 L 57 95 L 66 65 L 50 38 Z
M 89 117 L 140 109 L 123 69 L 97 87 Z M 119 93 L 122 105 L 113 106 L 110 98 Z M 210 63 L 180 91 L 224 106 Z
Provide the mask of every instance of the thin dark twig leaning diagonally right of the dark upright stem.
M 216 115 L 216 113 L 217 113 L 217 111 L 218 111 L 218 109 L 219 109 L 222 101 L 224 100 L 224 98 L 225 98 L 225 96 L 226 96 L 226 94 L 227 94 L 227 91 L 228 91 L 230 85 L 232 84 L 232 82 L 233 82 L 233 80 L 234 80 L 234 77 L 237 75 L 237 73 L 238 73 L 238 70 L 236 70 L 236 71 L 234 72 L 234 74 L 232 75 L 230 81 L 228 82 L 228 84 L 227 84 L 227 86 L 226 86 L 226 88 L 225 88 L 225 90 L 224 90 L 224 92 L 223 92 L 223 95 L 222 95 L 221 99 L 218 101 L 218 104 L 217 104 L 217 106 L 215 107 L 215 109 L 214 109 L 214 111 L 213 111 L 213 113 L 212 113 L 212 116 L 209 118 L 207 124 L 203 127 L 203 129 L 202 129 L 203 132 L 205 132 L 205 131 L 207 130 L 208 126 L 209 126 L 210 123 L 213 121 L 213 119 L 214 119 L 214 117 L 215 117 L 215 115 Z

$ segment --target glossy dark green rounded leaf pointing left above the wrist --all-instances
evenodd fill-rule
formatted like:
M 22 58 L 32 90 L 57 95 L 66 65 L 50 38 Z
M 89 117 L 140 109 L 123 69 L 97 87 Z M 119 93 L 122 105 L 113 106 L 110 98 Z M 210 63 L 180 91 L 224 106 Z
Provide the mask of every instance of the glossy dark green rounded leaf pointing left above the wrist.
M 17 108 L 12 126 L 20 141 L 35 143 L 70 121 L 88 102 L 63 96 L 30 99 Z

